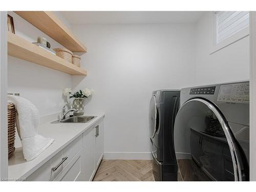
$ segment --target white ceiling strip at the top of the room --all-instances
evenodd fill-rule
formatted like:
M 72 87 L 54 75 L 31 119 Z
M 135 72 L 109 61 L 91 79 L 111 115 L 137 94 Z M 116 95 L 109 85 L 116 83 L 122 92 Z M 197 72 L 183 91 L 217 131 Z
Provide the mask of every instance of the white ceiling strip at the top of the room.
M 202 11 L 61 11 L 71 25 L 194 23 Z

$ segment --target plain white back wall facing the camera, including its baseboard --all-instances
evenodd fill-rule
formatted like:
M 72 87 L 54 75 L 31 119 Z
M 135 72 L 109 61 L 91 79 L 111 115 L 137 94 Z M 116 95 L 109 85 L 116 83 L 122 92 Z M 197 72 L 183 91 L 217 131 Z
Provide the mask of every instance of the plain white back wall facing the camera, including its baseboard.
M 73 77 L 73 88 L 95 90 L 85 110 L 105 112 L 105 158 L 150 158 L 148 102 L 153 90 L 195 84 L 194 31 L 193 24 L 73 26 L 88 47 L 81 66 L 89 71 Z

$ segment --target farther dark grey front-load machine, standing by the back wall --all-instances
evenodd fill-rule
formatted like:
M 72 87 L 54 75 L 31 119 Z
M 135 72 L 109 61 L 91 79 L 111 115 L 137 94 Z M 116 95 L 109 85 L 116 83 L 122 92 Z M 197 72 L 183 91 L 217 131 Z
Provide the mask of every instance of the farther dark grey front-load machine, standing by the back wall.
M 150 100 L 150 141 L 156 181 L 177 181 L 173 131 L 179 103 L 180 90 L 153 91 Z

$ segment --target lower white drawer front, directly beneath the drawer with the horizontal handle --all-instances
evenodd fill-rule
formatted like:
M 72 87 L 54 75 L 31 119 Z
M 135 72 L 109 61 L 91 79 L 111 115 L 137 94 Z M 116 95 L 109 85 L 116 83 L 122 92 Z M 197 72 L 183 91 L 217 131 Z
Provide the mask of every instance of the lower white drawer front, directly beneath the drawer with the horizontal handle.
M 53 181 L 76 181 L 81 177 L 81 151 L 65 166 Z

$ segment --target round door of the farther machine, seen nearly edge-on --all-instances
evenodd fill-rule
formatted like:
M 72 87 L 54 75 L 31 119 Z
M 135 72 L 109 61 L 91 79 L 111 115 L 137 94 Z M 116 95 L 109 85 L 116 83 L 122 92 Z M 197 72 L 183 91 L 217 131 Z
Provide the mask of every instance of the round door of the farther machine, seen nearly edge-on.
M 150 114 L 149 114 L 149 124 L 150 124 L 150 137 L 153 139 L 157 132 L 157 102 L 156 96 L 153 95 L 150 100 Z

